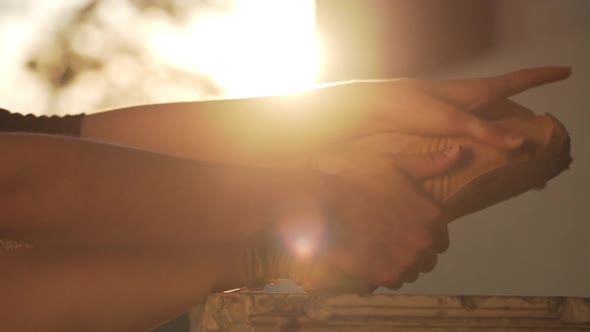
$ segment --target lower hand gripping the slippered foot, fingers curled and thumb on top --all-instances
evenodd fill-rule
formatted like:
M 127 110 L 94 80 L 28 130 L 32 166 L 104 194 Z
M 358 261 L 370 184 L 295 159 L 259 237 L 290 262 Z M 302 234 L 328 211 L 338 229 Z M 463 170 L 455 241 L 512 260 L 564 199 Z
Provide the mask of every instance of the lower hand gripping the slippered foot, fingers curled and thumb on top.
M 338 167 L 336 160 L 318 165 L 353 191 L 336 193 L 340 201 L 332 217 L 339 225 L 332 229 L 333 246 L 320 254 L 324 262 L 315 262 L 300 280 L 307 291 L 339 291 L 343 286 L 322 275 L 326 267 L 365 281 L 362 287 L 399 288 L 431 271 L 437 255 L 449 246 L 447 218 L 417 184 L 452 169 L 461 159 L 460 146 L 425 154 L 354 157 L 362 161 L 353 167 Z

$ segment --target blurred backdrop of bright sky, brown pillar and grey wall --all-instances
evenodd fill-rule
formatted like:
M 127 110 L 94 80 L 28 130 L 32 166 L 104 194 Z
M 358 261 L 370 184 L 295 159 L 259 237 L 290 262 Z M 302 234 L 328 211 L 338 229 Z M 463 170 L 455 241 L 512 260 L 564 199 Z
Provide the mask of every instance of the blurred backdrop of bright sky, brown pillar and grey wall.
M 398 293 L 590 297 L 590 1 L 1 0 L 0 46 L 0 107 L 34 114 L 572 66 L 515 98 L 564 122 L 572 169 L 453 223 L 435 271 Z

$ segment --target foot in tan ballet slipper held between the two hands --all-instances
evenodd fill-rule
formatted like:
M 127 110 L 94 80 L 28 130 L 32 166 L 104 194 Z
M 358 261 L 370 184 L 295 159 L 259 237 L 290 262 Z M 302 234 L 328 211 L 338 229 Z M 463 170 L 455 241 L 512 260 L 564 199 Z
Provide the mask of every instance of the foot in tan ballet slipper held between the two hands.
M 537 116 L 513 102 L 503 103 L 502 113 L 491 120 L 499 127 L 525 137 L 517 151 L 500 150 L 468 138 L 416 137 L 402 153 L 440 151 L 461 146 L 465 156 L 457 167 L 423 183 L 424 190 L 450 220 L 477 212 L 547 181 L 571 163 L 569 135 L 550 114 Z M 489 114 L 489 110 L 484 110 Z

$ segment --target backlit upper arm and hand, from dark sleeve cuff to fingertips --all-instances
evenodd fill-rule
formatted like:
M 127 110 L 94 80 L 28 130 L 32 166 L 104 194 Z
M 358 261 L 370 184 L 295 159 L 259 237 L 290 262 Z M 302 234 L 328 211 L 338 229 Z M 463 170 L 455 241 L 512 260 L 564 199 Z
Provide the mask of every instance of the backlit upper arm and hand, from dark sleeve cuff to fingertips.
M 81 136 L 240 164 L 282 161 L 377 132 L 469 136 L 514 148 L 518 137 L 470 111 L 569 73 L 546 67 L 480 79 L 362 81 L 288 96 L 142 105 L 86 116 Z

